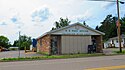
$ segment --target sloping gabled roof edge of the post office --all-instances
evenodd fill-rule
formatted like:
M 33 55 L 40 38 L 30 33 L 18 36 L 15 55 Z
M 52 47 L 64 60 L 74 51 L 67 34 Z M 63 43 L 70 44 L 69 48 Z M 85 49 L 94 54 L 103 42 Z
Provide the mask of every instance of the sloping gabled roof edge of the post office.
M 69 26 L 65 26 L 65 27 L 62 27 L 62 28 L 59 28 L 59 29 L 56 29 L 56 30 L 51 30 L 51 31 L 49 31 L 49 32 L 46 32 L 45 34 L 43 34 L 42 36 L 38 37 L 37 39 L 39 39 L 39 38 L 41 38 L 41 37 L 43 37 L 43 36 L 45 36 L 45 35 L 52 34 L 52 33 L 54 33 L 54 32 L 58 32 L 58 31 L 67 29 L 67 28 L 72 27 L 72 26 L 75 26 L 75 25 L 80 25 L 80 26 L 82 26 L 82 27 L 84 27 L 84 28 L 86 28 L 86 29 L 88 29 L 88 30 L 91 30 L 91 31 L 96 32 L 96 33 L 99 33 L 100 35 L 105 35 L 105 33 L 100 32 L 100 31 L 98 31 L 98 30 L 95 30 L 95 29 L 93 29 L 93 28 L 90 28 L 90 27 L 85 26 L 85 25 L 80 24 L 80 23 L 75 23 L 75 24 L 71 24 L 71 25 L 69 25 Z

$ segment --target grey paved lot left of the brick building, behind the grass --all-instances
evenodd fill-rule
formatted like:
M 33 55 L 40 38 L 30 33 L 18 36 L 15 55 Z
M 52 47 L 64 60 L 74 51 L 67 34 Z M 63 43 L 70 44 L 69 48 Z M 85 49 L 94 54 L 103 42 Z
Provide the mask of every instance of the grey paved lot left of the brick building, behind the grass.
M 16 58 L 19 56 L 19 51 L 5 51 L 0 52 L 0 58 Z M 37 54 L 36 52 L 28 52 L 20 51 L 20 57 L 31 57 L 31 56 L 41 56 L 41 54 Z

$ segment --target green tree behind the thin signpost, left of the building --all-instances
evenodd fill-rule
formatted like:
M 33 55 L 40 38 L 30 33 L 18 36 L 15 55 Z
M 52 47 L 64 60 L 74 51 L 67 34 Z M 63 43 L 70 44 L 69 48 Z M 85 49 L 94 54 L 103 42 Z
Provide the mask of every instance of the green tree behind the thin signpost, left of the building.
M 20 39 L 14 41 L 13 46 L 20 46 L 20 49 L 24 50 L 25 47 L 29 49 L 31 43 L 32 43 L 31 37 L 23 35 L 20 36 Z

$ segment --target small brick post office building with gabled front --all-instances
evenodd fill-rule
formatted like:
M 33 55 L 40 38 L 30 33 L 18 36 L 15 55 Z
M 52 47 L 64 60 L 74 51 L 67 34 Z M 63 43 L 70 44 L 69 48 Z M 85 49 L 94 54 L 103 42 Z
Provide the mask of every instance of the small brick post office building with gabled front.
M 102 52 L 102 35 L 83 24 L 75 23 L 49 31 L 37 38 L 37 52 L 48 54 L 87 53 L 88 45 L 96 43 L 96 52 Z

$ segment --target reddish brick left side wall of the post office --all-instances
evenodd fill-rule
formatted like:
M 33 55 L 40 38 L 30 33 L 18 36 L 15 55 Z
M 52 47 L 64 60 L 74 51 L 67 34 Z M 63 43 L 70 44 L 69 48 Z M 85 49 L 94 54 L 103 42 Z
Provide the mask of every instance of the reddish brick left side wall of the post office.
M 41 43 L 42 42 L 42 43 Z M 46 35 L 40 39 L 38 39 L 38 52 L 50 53 L 50 36 Z

